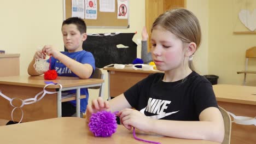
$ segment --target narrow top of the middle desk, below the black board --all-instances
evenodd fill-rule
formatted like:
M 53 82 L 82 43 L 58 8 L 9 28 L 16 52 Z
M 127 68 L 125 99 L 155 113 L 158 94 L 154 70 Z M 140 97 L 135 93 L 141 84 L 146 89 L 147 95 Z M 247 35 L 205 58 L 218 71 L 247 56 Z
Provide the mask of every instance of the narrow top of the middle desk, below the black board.
M 135 70 L 132 69 L 132 67 L 125 67 L 124 69 L 116 69 L 114 67 L 109 67 L 109 68 L 103 68 L 103 70 L 109 70 L 109 71 L 124 71 L 124 72 L 132 72 L 132 73 L 164 73 L 163 71 L 160 70 Z

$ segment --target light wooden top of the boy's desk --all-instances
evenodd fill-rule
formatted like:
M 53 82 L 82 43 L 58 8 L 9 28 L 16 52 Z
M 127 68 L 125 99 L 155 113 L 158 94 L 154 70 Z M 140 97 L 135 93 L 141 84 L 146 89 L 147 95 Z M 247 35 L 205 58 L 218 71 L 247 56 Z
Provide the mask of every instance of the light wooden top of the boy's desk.
M 56 80 L 44 80 L 43 76 L 4 76 L 0 77 L 0 84 L 44 87 L 45 81 L 60 83 L 63 88 L 103 83 L 102 79 L 79 79 L 78 77 L 58 76 Z M 59 88 L 59 85 L 50 85 L 47 88 Z

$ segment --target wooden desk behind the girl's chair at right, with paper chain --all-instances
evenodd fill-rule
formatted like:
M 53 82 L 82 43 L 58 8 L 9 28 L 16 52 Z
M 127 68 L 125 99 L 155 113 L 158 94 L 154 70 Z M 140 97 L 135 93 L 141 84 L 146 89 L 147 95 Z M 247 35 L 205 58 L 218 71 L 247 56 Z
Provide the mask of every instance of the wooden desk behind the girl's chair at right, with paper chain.
M 213 85 L 218 105 L 236 116 L 256 116 L 256 87 Z M 231 143 L 255 143 L 256 127 L 232 123 Z

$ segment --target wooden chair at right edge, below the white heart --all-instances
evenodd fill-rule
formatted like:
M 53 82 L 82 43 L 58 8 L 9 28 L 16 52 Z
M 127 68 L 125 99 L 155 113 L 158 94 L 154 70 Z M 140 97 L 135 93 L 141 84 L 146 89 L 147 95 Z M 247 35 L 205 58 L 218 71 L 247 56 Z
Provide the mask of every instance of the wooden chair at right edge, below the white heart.
M 248 70 L 249 58 L 256 58 L 256 46 L 251 47 L 250 49 L 246 50 L 245 70 L 244 71 L 237 71 L 237 74 L 244 74 L 243 85 L 246 84 L 246 74 L 256 74 L 256 71 Z

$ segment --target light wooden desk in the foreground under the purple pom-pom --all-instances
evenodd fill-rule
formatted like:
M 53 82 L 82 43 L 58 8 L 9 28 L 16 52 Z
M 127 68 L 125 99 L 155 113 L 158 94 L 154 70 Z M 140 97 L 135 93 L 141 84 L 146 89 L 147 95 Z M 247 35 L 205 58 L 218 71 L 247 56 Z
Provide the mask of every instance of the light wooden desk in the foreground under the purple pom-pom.
M 94 137 L 89 131 L 88 123 L 85 122 L 85 119 L 77 117 L 44 119 L 42 121 L 1 126 L 0 134 L 0 143 L 143 143 L 135 140 L 132 136 L 132 131 L 125 129 L 123 125 L 118 125 L 117 132 L 111 137 Z M 137 131 L 136 136 L 161 143 L 215 143 L 150 135 L 141 131 Z

